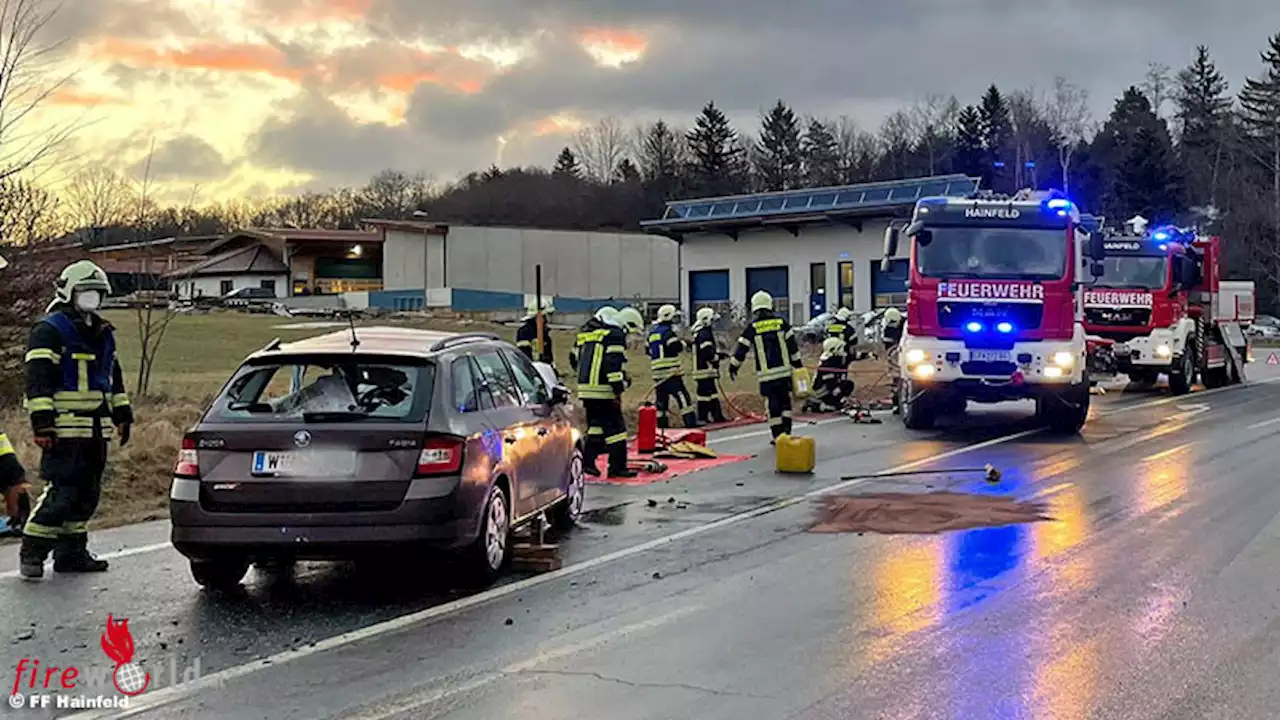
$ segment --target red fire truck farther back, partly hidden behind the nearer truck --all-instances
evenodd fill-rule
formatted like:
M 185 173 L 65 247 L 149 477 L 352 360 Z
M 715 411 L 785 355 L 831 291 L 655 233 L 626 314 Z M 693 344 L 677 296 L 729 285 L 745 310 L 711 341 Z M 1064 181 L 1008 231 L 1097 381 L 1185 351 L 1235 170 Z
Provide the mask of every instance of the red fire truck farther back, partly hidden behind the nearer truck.
M 1105 273 L 1084 291 L 1084 328 L 1096 377 L 1126 374 L 1172 395 L 1244 380 L 1252 281 L 1220 277 L 1222 245 L 1183 228 L 1103 238 Z

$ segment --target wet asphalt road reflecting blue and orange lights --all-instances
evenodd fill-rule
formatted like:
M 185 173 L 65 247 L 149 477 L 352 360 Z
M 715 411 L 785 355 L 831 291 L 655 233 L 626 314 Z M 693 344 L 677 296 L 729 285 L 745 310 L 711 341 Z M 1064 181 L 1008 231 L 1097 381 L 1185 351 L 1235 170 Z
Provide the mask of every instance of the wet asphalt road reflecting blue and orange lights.
M 140 717 L 1274 716 L 1280 383 L 1094 401 L 1083 439 L 1029 430 L 1021 409 L 925 434 L 812 425 L 812 478 L 774 475 L 760 430 L 726 430 L 716 450 L 763 456 L 593 486 L 564 570 L 479 596 L 430 560 L 255 571 L 242 593 L 204 593 L 156 547 L 164 524 L 97 536 L 100 552 L 132 552 L 105 577 L 22 583 L 9 551 L 10 667 L 106 664 L 114 612 L 152 673 Z M 946 473 L 842 484 L 1036 498 L 1055 520 L 804 532 L 813 496 L 841 475 L 984 462 L 1000 486 Z M 196 662 L 201 683 L 169 687 Z

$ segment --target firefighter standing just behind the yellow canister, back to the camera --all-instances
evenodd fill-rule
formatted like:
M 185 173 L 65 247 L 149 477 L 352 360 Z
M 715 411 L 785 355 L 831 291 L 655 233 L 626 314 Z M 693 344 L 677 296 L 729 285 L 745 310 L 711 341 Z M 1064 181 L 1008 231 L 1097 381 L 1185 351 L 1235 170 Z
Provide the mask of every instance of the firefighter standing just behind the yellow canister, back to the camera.
M 800 348 L 791 324 L 773 311 L 773 296 L 763 290 L 751 296 L 751 322 L 737 338 L 730 378 L 737 378 L 748 352 L 755 355 L 755 379 L 769 407 L 771 443 L 776 445 L 778 436 L 791 433 L 791 375 L 801 366 Z

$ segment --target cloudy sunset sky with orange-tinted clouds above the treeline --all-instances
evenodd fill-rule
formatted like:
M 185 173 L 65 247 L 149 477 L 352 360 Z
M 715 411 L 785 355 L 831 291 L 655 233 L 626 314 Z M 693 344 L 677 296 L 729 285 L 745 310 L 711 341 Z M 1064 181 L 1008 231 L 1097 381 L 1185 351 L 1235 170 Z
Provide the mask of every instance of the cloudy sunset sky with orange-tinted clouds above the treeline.
M 1148 63 L 1208 45 L 1233 91 L 1276 0 L 69 0 L 74 70 L 45 110 L 82 161 L 215 200 L 549 164 L 584 122 L 746 127 L 781 97 L 874 128 L 927 94 L 1087 87 L 1105 114 Z M 42 120 L 44 122 L 44 120 Z

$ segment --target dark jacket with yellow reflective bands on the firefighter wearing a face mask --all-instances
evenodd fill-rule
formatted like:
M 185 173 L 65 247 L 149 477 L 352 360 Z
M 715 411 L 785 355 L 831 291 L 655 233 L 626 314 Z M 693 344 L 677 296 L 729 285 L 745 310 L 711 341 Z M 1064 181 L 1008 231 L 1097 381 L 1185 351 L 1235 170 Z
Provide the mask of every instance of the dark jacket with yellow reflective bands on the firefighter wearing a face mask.
M 37 436 L 109 438 L 104 427 L 133 423 L 110 323 L 54 311 L 32 328 L 26 364 Z

